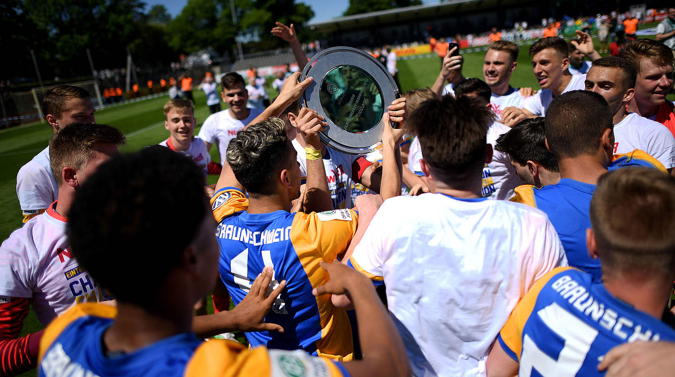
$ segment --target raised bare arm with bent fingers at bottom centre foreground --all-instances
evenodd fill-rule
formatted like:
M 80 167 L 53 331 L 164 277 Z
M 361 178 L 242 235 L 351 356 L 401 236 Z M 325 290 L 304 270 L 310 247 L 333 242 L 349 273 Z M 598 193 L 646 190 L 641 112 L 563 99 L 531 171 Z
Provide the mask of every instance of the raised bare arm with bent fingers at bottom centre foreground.
M 371 281 L 344 264 L 320 263 L 328 272 L 329 281 L 315 288 L 314 295 L 348 293 L 356 310 L 363 359 L 345 362 L 342 366 L 352 377 L 410 376 L 406 349 Z

